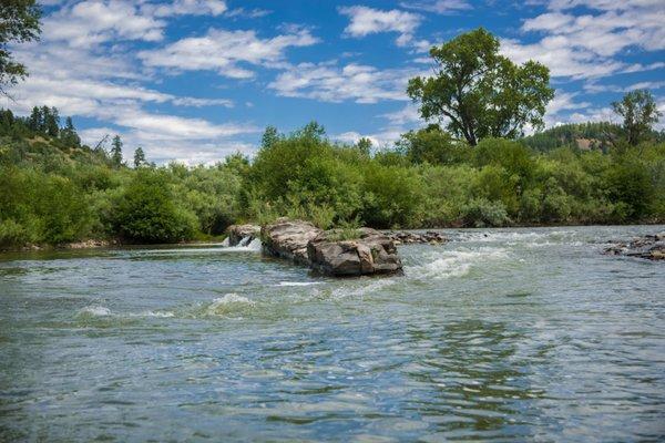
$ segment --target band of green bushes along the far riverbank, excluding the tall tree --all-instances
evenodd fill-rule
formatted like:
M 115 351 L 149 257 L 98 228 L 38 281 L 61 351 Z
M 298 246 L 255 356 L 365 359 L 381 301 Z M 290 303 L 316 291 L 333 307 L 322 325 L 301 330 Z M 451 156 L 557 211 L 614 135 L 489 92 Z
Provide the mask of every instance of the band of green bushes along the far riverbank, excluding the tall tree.
M 268 127 L 253 162 L 234 154 L 213 166 L 129 167 L 103 145 L 32 132 L 3 111 L 0 250 L 214 241 L 232 224 L 280 216 L 323 229 L 664 223 L 665 143 L 574 142 L 607 128 L 621 134 L 566 125 L 553 130 L 555 141 L 545 131 L 473 148 L 426 128 L 372 152 L 365 140 L 331 142 L 310 123 L 288 135 Z M 564 130 L 572 143 L 542 147 Z M 535 137 L 545 142 L 533 146 Z

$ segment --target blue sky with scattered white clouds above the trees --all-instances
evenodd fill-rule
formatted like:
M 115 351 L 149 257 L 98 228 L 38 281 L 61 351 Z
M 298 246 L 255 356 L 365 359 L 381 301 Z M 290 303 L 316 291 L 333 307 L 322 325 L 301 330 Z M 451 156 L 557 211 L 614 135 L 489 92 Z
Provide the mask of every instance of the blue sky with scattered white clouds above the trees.
M 390 145 L 423 125 L 406 96 L 428 49 L 478 28 L 515 62 L 550 66 L 549 126 L 616 120 L 647 87 L 665 110 L 663 0 L 47 0 L 42 40 L 14 48 L 30 78 L 1 106 L 57 106 L 85 142 L 125 156 L 213 163 L 252 155 L 266 125 Z M 663 125 L 661 124 L 661 128 Z

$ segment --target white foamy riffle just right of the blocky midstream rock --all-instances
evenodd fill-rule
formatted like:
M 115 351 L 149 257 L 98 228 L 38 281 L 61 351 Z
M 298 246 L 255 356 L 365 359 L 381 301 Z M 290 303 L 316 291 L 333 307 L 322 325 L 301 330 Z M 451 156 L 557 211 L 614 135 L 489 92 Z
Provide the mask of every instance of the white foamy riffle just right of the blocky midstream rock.
M 483 247 L 475 250 L 443 250 L 428 256 L 432 261 L 407 268 L 407 276 L 415 278 L 446 279 L 463 277 L 474 266 L 510 257 L 502 248 Z

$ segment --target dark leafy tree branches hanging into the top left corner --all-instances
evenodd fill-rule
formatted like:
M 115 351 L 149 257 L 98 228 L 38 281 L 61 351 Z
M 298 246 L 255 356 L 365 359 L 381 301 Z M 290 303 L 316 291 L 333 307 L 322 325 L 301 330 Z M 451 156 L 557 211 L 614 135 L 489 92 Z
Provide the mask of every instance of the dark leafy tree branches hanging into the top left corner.
M 0 1 L 0 93 L 28 75 L 25 66 L 14 61 L 9 45 L 38 40 L 41 11 L 34 0 Z

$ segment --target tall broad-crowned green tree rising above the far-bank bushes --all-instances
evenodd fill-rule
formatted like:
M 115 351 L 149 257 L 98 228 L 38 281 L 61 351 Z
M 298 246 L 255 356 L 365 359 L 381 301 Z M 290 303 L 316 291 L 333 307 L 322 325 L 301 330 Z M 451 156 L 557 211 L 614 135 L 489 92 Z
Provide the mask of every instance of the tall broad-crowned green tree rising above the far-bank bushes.
M 484 137 L 514 138 L 525 125 L 543 126 L 554 96 L 550 70 L 538 62 L 516 65 L 499 54 L 499 40 L 482 28 L 430 50 L 436 75 L 409 81 L 407 93 L 426 120 L 475 146 Z

